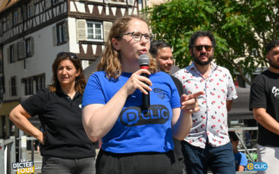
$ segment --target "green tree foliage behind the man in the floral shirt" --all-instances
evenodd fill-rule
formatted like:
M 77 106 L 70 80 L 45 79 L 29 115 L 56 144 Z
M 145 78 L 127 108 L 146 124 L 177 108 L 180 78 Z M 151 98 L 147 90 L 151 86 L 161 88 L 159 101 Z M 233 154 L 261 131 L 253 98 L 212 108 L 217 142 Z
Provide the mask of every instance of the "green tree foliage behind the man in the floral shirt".
M 278 7 L 278 0 L 172 0 L 144 13 L 156 39 L 173 46 L 176 65 L 192 61 L 190 35 L 209 30 L 216 37 L 216 63 L 250 84 L 246 74 L 267 66 L 264 46 L 279 36 Z

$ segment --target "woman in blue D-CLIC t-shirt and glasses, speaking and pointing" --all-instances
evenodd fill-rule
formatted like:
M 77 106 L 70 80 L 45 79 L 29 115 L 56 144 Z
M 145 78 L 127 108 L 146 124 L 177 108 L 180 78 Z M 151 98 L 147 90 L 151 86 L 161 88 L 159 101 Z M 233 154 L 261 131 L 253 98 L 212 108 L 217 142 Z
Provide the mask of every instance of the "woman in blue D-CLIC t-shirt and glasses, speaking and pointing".
M 149 55 L 152 38 L 144 19 L 135 15 L 117 19 L 98 72 L 87 82 L 84 129 L 91 141 L 103 142 L 96 173 L 181 173 L 172 136 L 182 140 L 188 134 L 202 92 L 180 98 L 171 77 L 158 72 L 151 56 L 149 70 L 140 69 L 138 58 Z M 142 107 L 146 90 L 148 109 Z

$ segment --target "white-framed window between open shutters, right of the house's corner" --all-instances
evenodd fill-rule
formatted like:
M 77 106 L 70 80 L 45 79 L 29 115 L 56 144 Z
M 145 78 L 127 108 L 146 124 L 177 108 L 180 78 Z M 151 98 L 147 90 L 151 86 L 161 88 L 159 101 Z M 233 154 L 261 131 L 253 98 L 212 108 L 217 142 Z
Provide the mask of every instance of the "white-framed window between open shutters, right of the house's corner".
M 93 41 L 103 41 L 103 24 L 100 22 L 86 22 L 87 39 Z

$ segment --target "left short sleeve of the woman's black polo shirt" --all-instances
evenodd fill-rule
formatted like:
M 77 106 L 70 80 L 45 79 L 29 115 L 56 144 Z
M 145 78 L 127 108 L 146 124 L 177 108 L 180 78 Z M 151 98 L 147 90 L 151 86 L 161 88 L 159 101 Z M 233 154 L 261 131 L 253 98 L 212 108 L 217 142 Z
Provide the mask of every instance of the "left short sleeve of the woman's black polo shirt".
M 21 103 L 23 109 L 32 117 L 43 113 L 48 93 L 51 93 L 51 91 L 48 88 L 44 88 L 39 90 L 38 93 L 31 95 L 31 97 Z

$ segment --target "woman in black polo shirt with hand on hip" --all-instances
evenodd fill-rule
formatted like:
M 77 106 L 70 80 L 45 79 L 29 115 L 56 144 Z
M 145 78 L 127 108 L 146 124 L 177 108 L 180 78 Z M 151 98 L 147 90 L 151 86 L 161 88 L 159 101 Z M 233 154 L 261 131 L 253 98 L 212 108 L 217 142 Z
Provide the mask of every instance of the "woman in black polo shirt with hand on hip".
M 10 112 L 10 120 L 42 144 L 42 173 L 95 173 L 95 146 L 82 125 L 82 65 L 70 52 L 57 54 L 52 84 Z M 28 120 L 38 115 L 42 133 Z

